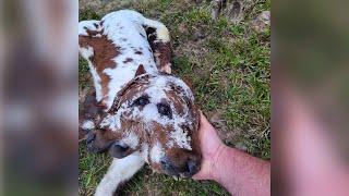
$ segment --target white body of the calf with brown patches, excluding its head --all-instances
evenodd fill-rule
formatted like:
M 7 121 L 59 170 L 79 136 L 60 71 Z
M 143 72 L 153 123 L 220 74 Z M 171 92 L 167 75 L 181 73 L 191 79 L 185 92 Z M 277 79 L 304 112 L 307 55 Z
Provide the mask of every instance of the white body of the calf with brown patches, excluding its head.
M 156 37 L 153 45 L 159 62 L 156 65 L 146 29 Z M 152 36 L 152 35 L 151 35 Z M 134 11 L 112 12 L 101 21 L 83 21 L 79 24 L 81 56 L 87 60 L 96 88 L 96 99 L 106 111 L 117 93 L 129 83 L 143 65 L 146 73 L 171 72 L 169 63 L 169 33 L 159 22 L 147 20 Z M 161 51 L 165 50 L 165 51 Z M 163 53 L 161 53 L 163 52 Z

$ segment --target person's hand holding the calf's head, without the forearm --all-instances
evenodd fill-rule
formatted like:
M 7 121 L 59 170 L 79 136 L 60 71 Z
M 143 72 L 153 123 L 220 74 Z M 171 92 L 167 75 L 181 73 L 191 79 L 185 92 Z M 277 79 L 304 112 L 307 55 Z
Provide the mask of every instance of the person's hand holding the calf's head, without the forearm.
M 225 149 L 225 145 L 218 137 L 216 130 L 201 111 L 200 115 L 198 139 L 201 143 L 203 160 L 201 170 L 193 176 L 193 179 L 215 180 L 216 163 Z

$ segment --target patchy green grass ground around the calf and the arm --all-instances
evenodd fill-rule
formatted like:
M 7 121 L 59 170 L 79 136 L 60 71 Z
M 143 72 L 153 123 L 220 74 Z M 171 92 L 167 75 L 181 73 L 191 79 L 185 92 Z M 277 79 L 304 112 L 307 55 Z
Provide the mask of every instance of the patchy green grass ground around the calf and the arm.
M 241 12 L 212 19 L 213 4 L 190 0 L 80 0 L 80 21 L 133 9 L 166 24 L 171 34 L 173 73 L 192 83 L 196 102 L 229 146 L 270 159 L 269 0 L 241 1 Z M 262 15 L 262 20 L 260 19 Z M 265 20 L 267 22 L 265 22 Z M 80 59 L 80 91 L 88 86 Z M 79 193 L 92 195 L 109 166 L 80 144 Z M 176 180 L 145 167 L 122 195 L 229 195 L 214 182 Z

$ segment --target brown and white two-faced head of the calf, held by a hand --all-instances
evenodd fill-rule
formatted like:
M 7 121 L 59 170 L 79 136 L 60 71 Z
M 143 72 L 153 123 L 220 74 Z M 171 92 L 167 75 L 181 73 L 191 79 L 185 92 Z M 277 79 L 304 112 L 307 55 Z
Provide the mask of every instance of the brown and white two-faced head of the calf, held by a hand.
M 193 94 L 180 78 L 142 73 L 118 94 L 87 144 L 116 158 L 140 151 L 153 170 L 190 177 L 201 166 L 198 115 Z

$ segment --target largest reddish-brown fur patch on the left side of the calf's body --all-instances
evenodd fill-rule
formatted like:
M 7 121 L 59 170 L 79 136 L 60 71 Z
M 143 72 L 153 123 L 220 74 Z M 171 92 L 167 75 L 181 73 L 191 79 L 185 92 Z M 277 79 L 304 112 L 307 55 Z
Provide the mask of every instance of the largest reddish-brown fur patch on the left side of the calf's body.
M 108 84 L 110 82 L 109 75 L 104 73 L 106 69 L 115 69 L 117 66 L 116 62 L 112 59 L 120 54 L 120 47 L 116 47 L 112 40 L 108 39 L 106 35 L 103 35 L 103 30 L 89 30 L 86 29 L 88 36 L 79 36 L 80 47 L 92 47 L 94 49 L 94 56 L 89 58 L 94 64 L 97 74 L 100 77 L 101 85 L 101 95 L 103 101 L 105 105 L 105 99 L 109 91 Z M 100 34 L 101 37 L 95 37 L 97 34 Z

